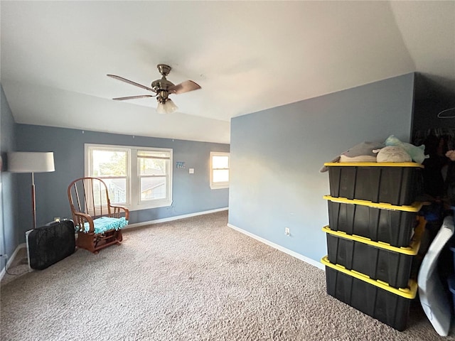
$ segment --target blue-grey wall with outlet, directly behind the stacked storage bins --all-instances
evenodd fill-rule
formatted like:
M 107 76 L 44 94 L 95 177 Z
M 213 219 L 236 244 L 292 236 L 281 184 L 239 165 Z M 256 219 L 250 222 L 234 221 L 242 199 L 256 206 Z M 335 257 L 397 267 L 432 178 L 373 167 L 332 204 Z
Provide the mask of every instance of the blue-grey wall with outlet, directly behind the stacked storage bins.
M 362 141 L 409 142 L 413 86 L 403 75 L 233 118 L 229 223 L 319 261 L 328 224 L 319 169 Z

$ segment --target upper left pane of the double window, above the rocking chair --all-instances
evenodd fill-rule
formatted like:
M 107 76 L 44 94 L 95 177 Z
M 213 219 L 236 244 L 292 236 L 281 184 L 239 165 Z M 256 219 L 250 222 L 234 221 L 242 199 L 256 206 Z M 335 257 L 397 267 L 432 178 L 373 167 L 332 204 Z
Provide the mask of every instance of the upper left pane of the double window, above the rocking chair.
M 94 176 L 126 176 L 127 152 L 126 151 L 93 151 Z

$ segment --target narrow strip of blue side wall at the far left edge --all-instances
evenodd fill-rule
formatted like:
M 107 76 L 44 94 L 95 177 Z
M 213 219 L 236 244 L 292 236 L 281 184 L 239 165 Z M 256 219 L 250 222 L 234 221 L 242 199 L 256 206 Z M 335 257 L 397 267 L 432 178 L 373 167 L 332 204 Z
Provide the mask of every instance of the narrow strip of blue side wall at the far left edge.
M 0 149 L 3 166 L 0 173 L 0 254 L 11 256 L 19 244 L 20 231 L 17 228 L 16 212 L 16 191 L 14 183 L 16 174 L 6 171 L 6 153 L 16 148 L 16 123 L 14 122 L 11 109 L 6 101 L 3 87 L 1 92 L 1 113 L 0 113 Z M 6 259 L 1 257 L 0 271 L 4 269 Z

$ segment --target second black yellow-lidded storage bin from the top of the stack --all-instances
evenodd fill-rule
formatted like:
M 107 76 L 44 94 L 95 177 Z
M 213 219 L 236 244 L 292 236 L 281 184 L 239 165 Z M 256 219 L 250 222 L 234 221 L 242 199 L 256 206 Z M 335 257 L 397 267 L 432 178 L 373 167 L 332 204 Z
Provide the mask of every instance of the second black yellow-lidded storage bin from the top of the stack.
M 334 231 L 385 242 L 393 247 L 410 244 L 421 202 L 412 206 L 395 206 L 365 200 L 349 200 L 325 195 L 328 222 Z

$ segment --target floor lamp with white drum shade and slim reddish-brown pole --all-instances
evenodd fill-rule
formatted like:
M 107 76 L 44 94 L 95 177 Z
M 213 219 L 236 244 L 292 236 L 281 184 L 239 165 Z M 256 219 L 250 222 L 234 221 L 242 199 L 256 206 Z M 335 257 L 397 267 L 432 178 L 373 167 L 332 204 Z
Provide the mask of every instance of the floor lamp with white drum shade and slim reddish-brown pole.
M 33 229 L 36 228 L 36 201 L 34 173 L 55 171 L 53 152 L 16 151 L 8 153 L 8 171 L 11 173 L 31 173 L 31 207 Z

